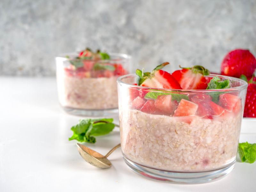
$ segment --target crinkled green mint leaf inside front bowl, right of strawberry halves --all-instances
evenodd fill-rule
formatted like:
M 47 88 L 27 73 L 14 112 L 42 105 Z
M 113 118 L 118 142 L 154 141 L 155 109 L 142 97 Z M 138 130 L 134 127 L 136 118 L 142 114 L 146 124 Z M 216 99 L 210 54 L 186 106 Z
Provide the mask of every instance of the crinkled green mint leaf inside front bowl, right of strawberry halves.
M 206 89 L 207 90 L 209 90 L 209 89 L 226 89 L 226 88 L 230 87 L 229 84 L 230 84 L 230 82 L 228 79 L 226 79 L 225 81 L 221 81 L 220 77 L 215 76 L 208 83 L 208 86 Z M 219 100 L 219 96 L 222 93 L 224 93 L 224 92 L 210 92 L 208 94 L 212 96 L 212 101 L 217 103 Z

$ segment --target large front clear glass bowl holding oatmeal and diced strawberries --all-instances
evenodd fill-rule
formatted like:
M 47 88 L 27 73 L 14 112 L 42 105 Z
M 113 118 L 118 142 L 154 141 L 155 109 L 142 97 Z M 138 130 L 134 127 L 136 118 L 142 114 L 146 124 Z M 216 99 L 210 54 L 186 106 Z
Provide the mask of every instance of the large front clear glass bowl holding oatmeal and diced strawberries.
M 247 83 L 230 88 L 158 89 L 117 79 L 121 148 L 125 163 L 142 176 L 173 183 L 206 183 L 232 171 Z

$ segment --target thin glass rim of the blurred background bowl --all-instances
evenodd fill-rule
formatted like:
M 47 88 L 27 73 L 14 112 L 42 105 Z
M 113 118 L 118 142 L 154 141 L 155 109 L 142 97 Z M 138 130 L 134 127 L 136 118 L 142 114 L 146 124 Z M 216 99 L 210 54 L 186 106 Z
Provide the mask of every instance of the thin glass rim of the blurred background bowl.
M 74 57 L 77 57 L 79 53 L 77 52 L 69 52 L 69 53 L 61 53 L 59 56 L 56 57 L 56 59 L 61 59 L 62 61 L 67 61 L 67 60 L 77 60 Z M 131 55 L 127 55 L 125 53 L 108 53 L 110 56 L 114 56 L 114 57 L 119 57 L 116 59 L 110 59 L 110 60 L 97 60 L 99 62 L 120 62 L 120 61 L 125 61 L 125 60 L 129 60 L 132 58 Z M 69 56 L 70 58 L 68 59 L 66 56 Z M 73 58 L 72 58 L 73 57 Z M 87 59 L 87 61 L 95 61 L 93 59 Z

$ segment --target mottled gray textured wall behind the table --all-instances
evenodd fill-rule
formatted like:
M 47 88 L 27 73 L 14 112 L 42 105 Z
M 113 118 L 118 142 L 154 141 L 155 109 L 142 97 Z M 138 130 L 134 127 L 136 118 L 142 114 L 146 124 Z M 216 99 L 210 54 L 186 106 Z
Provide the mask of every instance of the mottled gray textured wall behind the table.
M 256 54 L 256 1 L 1 0 L 0 75 L 53 76 L 59 53 L 91 47 L 149 70 L 219 71 L 234 48 Z

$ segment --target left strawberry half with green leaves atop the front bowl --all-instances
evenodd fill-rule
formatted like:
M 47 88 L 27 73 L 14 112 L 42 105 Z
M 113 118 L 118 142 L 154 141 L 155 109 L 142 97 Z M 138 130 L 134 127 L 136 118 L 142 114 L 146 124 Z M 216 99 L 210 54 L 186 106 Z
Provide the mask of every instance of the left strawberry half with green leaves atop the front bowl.
M 173 76 L 161 70 L 168 62 L 158 65 L 151 73 L 142 72 L 137 69 L 137 84 L 145 87 L 161 88 L 161 89 L 181 89 L 180 84 L 173 78 Z

